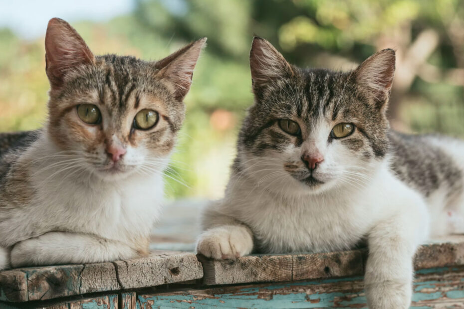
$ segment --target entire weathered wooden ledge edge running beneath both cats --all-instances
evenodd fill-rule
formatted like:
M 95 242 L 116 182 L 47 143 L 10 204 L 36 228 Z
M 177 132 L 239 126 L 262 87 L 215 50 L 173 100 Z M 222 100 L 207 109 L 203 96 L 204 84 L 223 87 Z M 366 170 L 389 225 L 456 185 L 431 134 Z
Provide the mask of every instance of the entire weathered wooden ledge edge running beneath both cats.
M 214 261 L 192 252 L 153 251 L 147 258 L 112 263 L 18 268 L 0 272 L 0 302 L 28 302 L 127 291 L 171 283 L 205 285 L 361 278 L 367 250 L 289 255 L 251 255 Z M 464 235 L 421 246 L 416 270 L 464 266 Z M 421 271 L 419 271 L 419 274 Z M 186 285 L 192 288 L 194 285 Z M 197 287 L 198 288 L 198 287 Z M 118 293 L 119 293 L 118 292 Z M 1 305 L 1 304 L 0 304 Z

